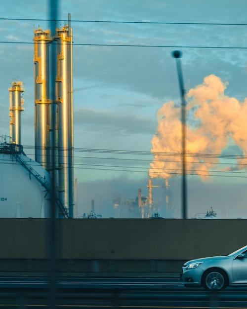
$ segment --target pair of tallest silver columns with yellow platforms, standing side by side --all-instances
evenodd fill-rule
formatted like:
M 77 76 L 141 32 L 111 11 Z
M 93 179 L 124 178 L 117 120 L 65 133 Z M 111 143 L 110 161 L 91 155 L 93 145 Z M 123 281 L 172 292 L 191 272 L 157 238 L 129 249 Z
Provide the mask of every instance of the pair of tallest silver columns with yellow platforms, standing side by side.
M 56 42 L 56 102 L 49 98 L 49 47 Z M 70 218 L 74 208 L 73 173 L 73 62 L 72 29 L 69 25 L 50 31 L 38 28 L 34 33 L 35 63 L 35 160 L 51 170 L 51 147 L 56 151 L 58 198 Z M 51 109 L 56 109 L 55 128 L 52 128 Z M 56 139 L 52 140 L 52 131 Z

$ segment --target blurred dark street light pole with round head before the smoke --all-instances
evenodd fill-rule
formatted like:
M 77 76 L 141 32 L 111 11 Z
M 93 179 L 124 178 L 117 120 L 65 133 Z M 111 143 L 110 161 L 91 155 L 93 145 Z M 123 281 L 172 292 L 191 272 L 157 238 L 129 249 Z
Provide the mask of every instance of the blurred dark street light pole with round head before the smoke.
M 187 181 L 186 181 L 186 102 L 183 74 L 180 58 L 182 53 L 179 50 L 172 52 L 172 57 L 176 59 L 177 75 L 181 96 L 181 123 L 182 123 L 182 218 L 187 219 Z

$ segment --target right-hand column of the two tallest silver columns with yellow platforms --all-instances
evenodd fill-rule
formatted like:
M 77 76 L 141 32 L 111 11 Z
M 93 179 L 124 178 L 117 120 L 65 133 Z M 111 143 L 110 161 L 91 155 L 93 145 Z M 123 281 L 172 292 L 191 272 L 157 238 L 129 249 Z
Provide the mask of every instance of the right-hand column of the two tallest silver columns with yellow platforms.
M 69 217 L 74 216 L 73 173 L 73 64 L 72 30 L 69 25 L 56 30 L 58 115 L 58 194 Z

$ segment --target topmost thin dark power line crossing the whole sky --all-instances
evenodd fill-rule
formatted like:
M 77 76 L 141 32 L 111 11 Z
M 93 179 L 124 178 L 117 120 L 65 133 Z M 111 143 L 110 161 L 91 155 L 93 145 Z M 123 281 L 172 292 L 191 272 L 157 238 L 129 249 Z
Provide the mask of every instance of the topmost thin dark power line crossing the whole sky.
M 0 18 L 0 20 L 13 21 L 57 21 L 68 22 L 67 19 L 43 19 L 43 18 Z M 127 21 L 127 20 L 86 20 L 73 19 L 74 23 L 104 23 L 104 24 L 151 24 L 151 25 L 192 25 L 192 26 L 247 26 L 246 23 L 208 23 L 208 22 L 163 22 L 163 21 Z

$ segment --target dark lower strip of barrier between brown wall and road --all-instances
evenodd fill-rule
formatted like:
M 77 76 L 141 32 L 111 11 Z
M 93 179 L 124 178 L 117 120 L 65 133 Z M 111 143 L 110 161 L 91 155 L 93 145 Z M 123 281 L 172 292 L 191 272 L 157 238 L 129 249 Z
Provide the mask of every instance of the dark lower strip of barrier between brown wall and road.
M 153 276 L 180 273 L 184 261 L 169 260 L 59 260 L 56 271 L 61 276 Z M 45 275 L 49 271 L 48 260 L 0 259 L 0 275 Z

